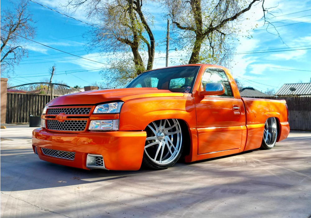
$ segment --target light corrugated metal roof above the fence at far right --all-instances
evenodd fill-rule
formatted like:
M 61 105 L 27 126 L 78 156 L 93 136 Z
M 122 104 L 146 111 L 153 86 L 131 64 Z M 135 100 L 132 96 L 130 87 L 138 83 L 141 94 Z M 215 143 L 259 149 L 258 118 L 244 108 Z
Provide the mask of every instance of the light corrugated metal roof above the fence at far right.
M 290 91 L 295 88 L 295 91 Z M 286 83 L 275 95 L 311 95 L 311 83 Z

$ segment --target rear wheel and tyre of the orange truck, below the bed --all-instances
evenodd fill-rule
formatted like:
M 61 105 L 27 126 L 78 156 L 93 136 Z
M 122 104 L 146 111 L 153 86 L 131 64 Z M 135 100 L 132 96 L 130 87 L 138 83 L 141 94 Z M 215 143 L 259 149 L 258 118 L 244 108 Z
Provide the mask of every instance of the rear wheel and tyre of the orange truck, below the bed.
M 261 147 L 263 149 L 271 149 L 276 143 L 276 138 L 277 138 L 276 118 L 269 117 L 265 122 Z

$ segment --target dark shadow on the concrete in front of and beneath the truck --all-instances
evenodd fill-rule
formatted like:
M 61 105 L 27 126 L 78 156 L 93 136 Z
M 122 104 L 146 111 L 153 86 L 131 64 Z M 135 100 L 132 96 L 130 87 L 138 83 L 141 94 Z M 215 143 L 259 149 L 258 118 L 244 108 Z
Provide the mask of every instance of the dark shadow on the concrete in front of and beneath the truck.
M 245 153 L 251 153 L 247 151 Z M 239 154 L 232 154 L 231 157 Z M 178 170 L 185 166 L 203 163 L 225 157 L 200 160 L 193 163 L 177 163 L 173 168 Z M 182 170 L 182 169 L 180 169 Z M 142 167 L 138 171 L 114 171 L 93 169 L 85 170 L 72 168 L 40 160 L 31 149 L 2 149 L 1 150 L 1 191 L 24 191 L 32 189 L 63 187 L 121 180 L 136 174 L 155 173 L 157 170 Z M 162 171 L 162 170 L 159 170 Z M 165 171 L 165 170 L 164 170 Z M 163 172 L 164 172 L 163 171 Z

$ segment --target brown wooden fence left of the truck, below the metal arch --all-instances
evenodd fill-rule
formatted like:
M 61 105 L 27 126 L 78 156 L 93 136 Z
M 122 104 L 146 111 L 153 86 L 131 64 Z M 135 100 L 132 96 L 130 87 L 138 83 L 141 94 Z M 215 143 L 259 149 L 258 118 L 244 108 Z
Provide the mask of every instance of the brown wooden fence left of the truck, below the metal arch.
M 40 116 L 50 100 L 49 94 L 7 93 L 6 123 L 28 124 L 29 116 Z

